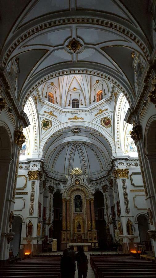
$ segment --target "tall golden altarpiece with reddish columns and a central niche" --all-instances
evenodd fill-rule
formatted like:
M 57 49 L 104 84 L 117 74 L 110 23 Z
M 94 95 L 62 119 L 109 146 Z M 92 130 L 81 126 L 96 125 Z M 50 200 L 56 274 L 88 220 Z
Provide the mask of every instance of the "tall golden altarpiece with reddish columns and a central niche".
M 94 209 L 95 190 L 87 175 L 68 177 L 62 193 L 61 250 L 71 244 L 84 251 L 98 248 Z

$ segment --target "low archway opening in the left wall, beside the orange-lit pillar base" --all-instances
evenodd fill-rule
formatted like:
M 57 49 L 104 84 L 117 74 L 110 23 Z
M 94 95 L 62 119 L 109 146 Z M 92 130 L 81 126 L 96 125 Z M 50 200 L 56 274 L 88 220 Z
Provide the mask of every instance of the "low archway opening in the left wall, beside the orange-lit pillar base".
M 21 230 L 22 230 L 22 218 L 20 216 L 15 216 L 12 223 L 12 232 L 14 234 L 13 240 L 10 242 L 10 251 L 13 251 L 13 256 L 17 256 L 21 241 Z

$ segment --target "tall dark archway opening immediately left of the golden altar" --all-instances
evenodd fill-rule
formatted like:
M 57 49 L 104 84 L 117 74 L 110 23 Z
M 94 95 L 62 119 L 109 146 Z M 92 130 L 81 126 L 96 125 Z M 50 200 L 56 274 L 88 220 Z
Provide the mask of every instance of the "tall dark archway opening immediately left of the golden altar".
M 53 194 L 53 238 L 57 239 L 57 250 L 60 250 L 61 230 L 62 230 L 62 198 L 60 192 L 56 191 Z

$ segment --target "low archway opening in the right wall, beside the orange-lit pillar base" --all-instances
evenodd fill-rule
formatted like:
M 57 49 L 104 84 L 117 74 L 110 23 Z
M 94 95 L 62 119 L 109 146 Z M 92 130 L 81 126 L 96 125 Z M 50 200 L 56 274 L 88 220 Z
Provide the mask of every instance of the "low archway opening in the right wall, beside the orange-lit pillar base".
M 146 251 L 152 251 L 151 241 L 147 231 L 149 230 L 149 219 L 146 215 L 140 214 L 137 218 L 138 230 L 141 244 L 145 245 Z

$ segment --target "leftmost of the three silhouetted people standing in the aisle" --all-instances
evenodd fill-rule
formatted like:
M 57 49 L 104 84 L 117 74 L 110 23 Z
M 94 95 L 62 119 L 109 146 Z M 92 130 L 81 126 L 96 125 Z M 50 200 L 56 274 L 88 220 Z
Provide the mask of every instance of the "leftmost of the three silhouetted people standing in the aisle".
M 61 278 L 72 278 L 75 271 L 75 265 L 72 257 L 69 256 L 68 249 L 64 249 L 63 256 L 61 257 Z

